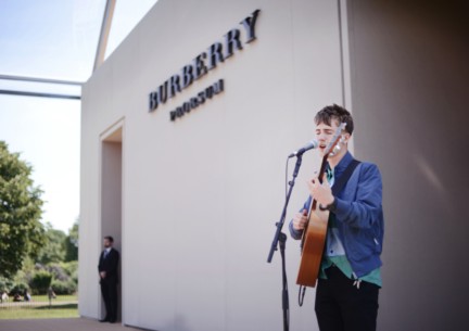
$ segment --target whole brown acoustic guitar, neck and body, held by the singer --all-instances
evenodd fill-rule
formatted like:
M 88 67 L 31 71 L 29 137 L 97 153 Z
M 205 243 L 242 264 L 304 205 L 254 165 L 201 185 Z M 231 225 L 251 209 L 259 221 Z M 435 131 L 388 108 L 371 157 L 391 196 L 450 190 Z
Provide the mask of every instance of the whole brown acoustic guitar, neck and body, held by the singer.
M 334 136 L 325 150 L 318 175 L 318 179 L 321 183 L 324 174 L 326 171 L 327 160 L 341 140 L 341 133 L 344 128 L 345 123 L 342 123 L 335 130 Z M 329 211 L 319 208 L 316 200 L 313 200 L 309 206 L 308 220 L 303 231 L 301 241 L 302 257 L 300 262 L 299 275 L 296 278 L 296 284 L 299 285 L 310 288 L 316 287 L 316 280 L 318 278 L 326 242 L 328 219 Z

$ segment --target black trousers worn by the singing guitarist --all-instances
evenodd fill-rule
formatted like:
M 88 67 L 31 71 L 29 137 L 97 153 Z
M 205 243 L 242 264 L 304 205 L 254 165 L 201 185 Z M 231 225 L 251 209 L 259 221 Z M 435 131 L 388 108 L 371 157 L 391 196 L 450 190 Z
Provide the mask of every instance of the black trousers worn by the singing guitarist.
M 376 331 L 379 287 L 360 282 L 359 289 L 335 266 L 326 270 L 316 291 L 320 331 Z

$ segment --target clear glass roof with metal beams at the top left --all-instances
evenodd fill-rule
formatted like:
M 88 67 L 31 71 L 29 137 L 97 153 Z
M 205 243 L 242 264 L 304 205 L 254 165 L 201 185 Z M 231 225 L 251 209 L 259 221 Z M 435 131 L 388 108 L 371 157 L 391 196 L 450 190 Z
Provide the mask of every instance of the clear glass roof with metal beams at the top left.
M 79 99 L 157 0 L 0 0 L 0 94 Z

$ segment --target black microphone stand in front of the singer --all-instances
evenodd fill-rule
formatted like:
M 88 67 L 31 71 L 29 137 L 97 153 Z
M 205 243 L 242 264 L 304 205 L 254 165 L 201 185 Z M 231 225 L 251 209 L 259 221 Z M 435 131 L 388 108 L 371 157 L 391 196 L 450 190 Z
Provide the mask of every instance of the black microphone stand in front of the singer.
M 284 219 L 287 216 L 287 206 L 290 202 L 290 196 L 293 191 L 295 178 L 300 171 L 301 163 L 302 163 L 302 156 L 303 153 L 296 155 L 296 164 L 295 168 L 293 170 L 293 178 L 289 181 L 289 190 L 286 196 L 286 202 L 283 205 L 283 211 L 280 216 L 280 220 L 276 222 L 277 230 L 274 235 L 274 241 L 270 246 L 269 255 L 267 257 L 267 263 L 271 263 L 272 256 L 275 251 L 277 251 L 277 245 L 280 246 L 280 255 L 282 259 L 282 311 L 283 311 L 283 330 L 288 331 L 290 327 L 290 305 L 289 305 L 289 295 L 288 295 L 288 282 L 287 282 L 287 269 L 286 269 L 286 257 L 284 257 L 284 250 L 286 250 L 286 242 L 287 242 L 287 234 L 284 234 L 281 230 L 284 224 Z

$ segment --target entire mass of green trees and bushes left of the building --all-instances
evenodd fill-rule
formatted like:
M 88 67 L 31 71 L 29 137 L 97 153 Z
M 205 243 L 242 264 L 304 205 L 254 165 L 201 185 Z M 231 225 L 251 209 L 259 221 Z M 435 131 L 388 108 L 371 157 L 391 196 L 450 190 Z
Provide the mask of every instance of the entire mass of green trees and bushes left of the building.
M 78 283 L 78 220 L 68 234 L 39 220 L 41 190 L 31 167 L 0 141 L 0 291 L 46 293 L 52 283 L 73 293 Z M 67 260 L 68 263 L 65 263 Z

